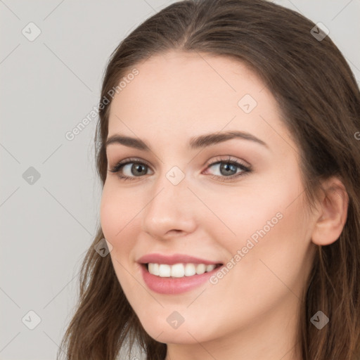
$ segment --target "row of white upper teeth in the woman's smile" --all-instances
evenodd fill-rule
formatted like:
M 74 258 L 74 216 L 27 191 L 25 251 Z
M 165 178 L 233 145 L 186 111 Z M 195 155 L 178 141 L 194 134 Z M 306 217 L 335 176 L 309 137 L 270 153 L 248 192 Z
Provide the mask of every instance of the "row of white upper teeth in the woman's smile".
M 201 275 L 205 272 L 214 270 L 216 265 L 205 264 L 148 264 L 148 271 L 150 274 L 160 276 L 161 278 L 183 278 L 184 276 L 193 276 L 195 274 Z

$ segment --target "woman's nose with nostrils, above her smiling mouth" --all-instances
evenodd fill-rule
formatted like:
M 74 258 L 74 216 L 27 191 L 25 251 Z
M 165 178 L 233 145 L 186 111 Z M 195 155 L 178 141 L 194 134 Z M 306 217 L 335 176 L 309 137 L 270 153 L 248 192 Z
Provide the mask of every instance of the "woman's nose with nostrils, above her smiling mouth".
M 153 238 L 173 238 L 191 233 L 196 227 L 196 198 L 186 177 L 172 184 L 165 175 L 154 184 L 148 205 L 142 212 L 142 228 Z

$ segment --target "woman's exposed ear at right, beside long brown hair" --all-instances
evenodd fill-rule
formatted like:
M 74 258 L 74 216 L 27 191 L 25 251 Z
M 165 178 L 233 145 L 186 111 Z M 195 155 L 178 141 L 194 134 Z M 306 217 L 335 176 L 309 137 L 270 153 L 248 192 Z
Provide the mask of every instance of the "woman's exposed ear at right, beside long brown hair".
M 347 219 L 349 195 L 342 181 L 331 177 L 322 183 L 319 214 L 311 236 L 317 245 L 330 245 L 338 240 Z

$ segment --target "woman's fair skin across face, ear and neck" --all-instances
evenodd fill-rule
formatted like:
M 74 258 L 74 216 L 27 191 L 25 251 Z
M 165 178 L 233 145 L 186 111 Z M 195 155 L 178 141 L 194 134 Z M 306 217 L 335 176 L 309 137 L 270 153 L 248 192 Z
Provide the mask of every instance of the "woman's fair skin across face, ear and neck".
M 342 183 L 324 182 L 328 191 L 309 212 L 299 150 L 274 96 L 243 63 L 170 51 L 136 68 L 139 75 L 113 98 L 108 136 L 140 138 L 152 151 L 113 143 L 108 169 L 130 157 L 149 167 L 136 176 L 127 165 L 129 181 L 108 172 L 101 199 L 103 233 L 127 300 L 146 332 L 167 343 L 167 360 L 300 360 L 300 298 L 316 245 L 333 243 L 345 224 Z M 257 101 L 248 114 L 238 106 L 245 94 Z M 228 130 L 247 131 L 267 147 L 231 139 L 188 148 L 193 136 Z M 226 164 L 227 155 L 252 172 L 221 181 L 229 174 L 208 164 Z M 185 176 L 177 185 L 166 177 L 174 166 Z M 181 253 L 226 264 L 278 212 L 282 219 L 218 283 L 180 295 L 154 293 L 144 283 L 139 257 Z M 173 311 L 185 319 L 176 329 L 167 323 Z

